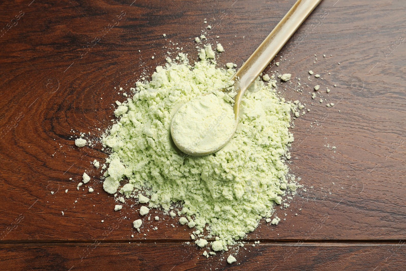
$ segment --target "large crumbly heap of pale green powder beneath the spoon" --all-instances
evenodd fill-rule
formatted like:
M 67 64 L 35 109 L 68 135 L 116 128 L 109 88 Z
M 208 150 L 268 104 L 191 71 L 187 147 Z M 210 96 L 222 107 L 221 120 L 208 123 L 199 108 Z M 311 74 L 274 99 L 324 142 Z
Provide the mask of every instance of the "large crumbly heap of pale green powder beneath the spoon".
M 104 189 L 111 194 L 119 189 L 127 198 L 144 191 L 149 208 L 170 210 L 180 203 L 181 222 L 216 237 L 214 250 L 227 250 L 272 215 L 289 187 L 284 160 L 293 141 L 292 104 L 257 81 L 242 99 L 237 131 L 225 147 L 200 157 L 181 153 L 170 134 L 177 109 L 207 91 L 230 87 L 235 73 L 232 65 L 216 68 L 214 53 L 206 51 L 193 66 L 179 53 L 180 61 L 156 67 L 152 80 L 136 82 L 134 96 L 114 111 L 119 121 L 102 139 L 112 150 Z M 232 97 L 224 94 L 230 106 Z

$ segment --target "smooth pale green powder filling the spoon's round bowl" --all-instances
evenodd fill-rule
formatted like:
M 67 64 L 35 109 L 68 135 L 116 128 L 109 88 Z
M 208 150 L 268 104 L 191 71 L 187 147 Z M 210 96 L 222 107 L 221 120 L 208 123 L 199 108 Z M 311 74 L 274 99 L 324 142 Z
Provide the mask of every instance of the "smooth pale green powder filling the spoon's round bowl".
M 214 152 L 225 145 L 236 124 L 231 100 L 229 94 L 214 91 L 182 105 L 171 122 L 171 135 L 177 147 L 193 154 Z

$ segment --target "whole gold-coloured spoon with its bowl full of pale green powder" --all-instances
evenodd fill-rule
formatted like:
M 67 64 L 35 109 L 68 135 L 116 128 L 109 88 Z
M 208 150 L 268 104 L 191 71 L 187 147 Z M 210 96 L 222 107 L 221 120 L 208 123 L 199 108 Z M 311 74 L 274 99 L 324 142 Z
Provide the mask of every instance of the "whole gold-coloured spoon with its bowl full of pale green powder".
M 188 118 L 192 118 L 192 114 L 188 114 L 188 111 L 200 111 L 200 116 L 209 114 L 210 112 L 205 112 L 209 108 L 205 104 L 215 102 L 214 94 L 205 93 L 199 97 L 201 98 L 200 101 L 197 99 L 191 100 L 178 109 L 171 121 L 171 136 L 181 152 L 192 156 L 203 156 L 217 152 L 228 143 L 237 130 L 240 103 L 245 91 L 321 1 L 298 0 L 248 60 L 230 78 L 230 81 L 234 81 L 234 92 L 237 93 L 234 97 L 233 106 L 235 124 L 224 126 L 224 124 L 227 125 L 231 122 L 229 118 L 227 119 L 224 116 L 225 113 L 222 113 L 222 118 L 218 118 L 217 121 L 202 122 L 201 127 L 199 124 L 195 124 L 195 126 L 192 126 L 193 133 L 180 136 L 182 134 L 181 126 L 183 125 L 181 121 L 186 123 Z M 212 97 L 208 97 L 209 95 Z M 216 104 L 216 111 L 221 111 L 222 108 L 217 106 Z M 196 116 L 192 121 L 196 121 Z

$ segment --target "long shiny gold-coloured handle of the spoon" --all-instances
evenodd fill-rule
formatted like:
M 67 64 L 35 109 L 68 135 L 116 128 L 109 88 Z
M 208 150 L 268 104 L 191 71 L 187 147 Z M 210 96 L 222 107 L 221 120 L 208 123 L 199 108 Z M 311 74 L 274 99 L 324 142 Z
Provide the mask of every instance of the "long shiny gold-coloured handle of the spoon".
M 248 58 L 248 60 L 231 77 L 235 80 L 234 113 L 238 118 L 240 101 L 244 92 L 268 66 L 275 55 L 281 50 L 285 43 L 292 37 L 293 33 L 306 20 L 307 16 L 317 7 L 322 0 L 298 0 L 286 13 L 285 17 L 275 26 L 272 32 L 262 41 L 261 45 Z

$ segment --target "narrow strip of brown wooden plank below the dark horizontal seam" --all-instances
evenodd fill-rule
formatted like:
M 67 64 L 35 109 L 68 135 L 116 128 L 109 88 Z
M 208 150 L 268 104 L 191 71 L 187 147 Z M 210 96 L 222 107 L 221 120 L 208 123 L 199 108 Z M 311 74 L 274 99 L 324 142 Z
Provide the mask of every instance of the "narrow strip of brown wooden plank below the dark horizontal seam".
M 1 245 L 1 270 L 391 270 L 406 268 L 403 243 L 279 243 L 202 256 L 204 249 L 176 243 L 71 243 Z M 236 252 L 238 250 L 237 255 Z M 227 263 L 233 254 L 237 262 Z

